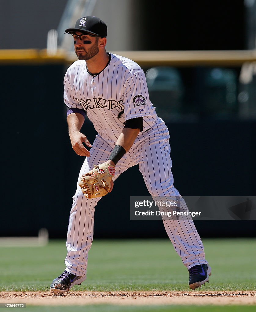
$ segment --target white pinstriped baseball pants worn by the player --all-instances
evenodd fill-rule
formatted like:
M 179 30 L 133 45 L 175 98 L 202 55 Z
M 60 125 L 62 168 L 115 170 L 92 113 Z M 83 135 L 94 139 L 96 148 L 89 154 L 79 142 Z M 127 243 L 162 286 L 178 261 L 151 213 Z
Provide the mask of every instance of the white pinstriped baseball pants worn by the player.
M 117 163 L 113 180 L 126 169 L 139 164 L 139 170 L 153 199 L 180 196 L 173 186 L 168 129 L 165 124 L 161 124 L 156 126 L 155 132 L 154 129 L 150 129 L 139 134 L 131 149 Z M 90 157 L 85 158 L 79 177 L 90 171 L 93 164 L 104 163 L 113 148 L 114 145 L 109 145 L 99 135 L 96 136 L 90 150 Z M 68 253 L 65 259 L 65 270 L 77 276 L 86 275 L 88 251 L 93 240 L 94 211 L 99 200 L 100 197 L 87 199 L 77 185 L 69 217 Z M 184 200 L 182 204 L 187 207 Z M 192 220 L 164 219 L 163 223 L 177 254 L 188 269 L 198 264 L 208 263 L 205 260 L 201 238 Z

